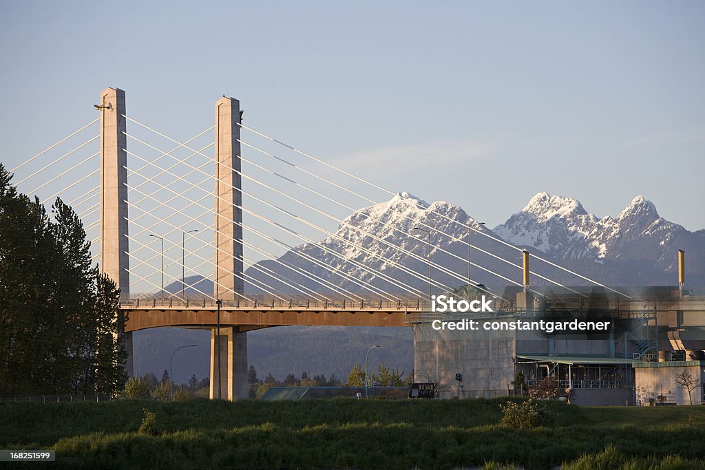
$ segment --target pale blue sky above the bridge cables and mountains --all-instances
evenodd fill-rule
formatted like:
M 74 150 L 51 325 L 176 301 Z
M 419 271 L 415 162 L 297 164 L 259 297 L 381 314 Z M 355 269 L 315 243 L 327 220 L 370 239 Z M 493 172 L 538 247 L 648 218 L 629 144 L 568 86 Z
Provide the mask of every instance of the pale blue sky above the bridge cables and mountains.
M 0 161 L 96 118 L 105 87 L 184 138 L 227 94 L 245 124 L 489 226 L 547 191 L 597 216 L 643 194 L 697 230 L 704 23 L 702 1 L 4 1 Z

